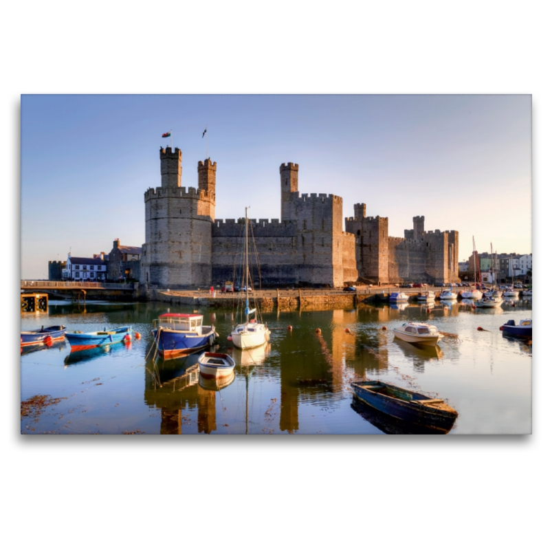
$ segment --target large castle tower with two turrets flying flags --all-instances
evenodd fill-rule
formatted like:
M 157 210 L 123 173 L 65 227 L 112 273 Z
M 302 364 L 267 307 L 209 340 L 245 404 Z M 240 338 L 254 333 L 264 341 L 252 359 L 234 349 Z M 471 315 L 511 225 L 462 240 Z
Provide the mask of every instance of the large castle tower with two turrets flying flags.
M 199 188 L 181 187 L 181 151 L 160 151 L 161 186 L 145 192 L 140 283 L 159 288 L 211 284 L 216 163 L 199 162 Z

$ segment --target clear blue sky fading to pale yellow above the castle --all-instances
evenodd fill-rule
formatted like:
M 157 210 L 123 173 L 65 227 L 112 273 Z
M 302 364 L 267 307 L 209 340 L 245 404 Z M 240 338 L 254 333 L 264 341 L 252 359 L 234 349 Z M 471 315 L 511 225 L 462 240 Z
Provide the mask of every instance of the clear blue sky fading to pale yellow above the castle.
M 217 162 L 217 218 L 280 217 L 278 167 L 300 192 L 388 217 L 392 236 L 424 215 L 458 230 L 460 260 L 493 243 L 531 252 L 531 96 L 22 96 L 21 261 L 144 243 L 143 193 L 160 185 L 159 146 L 181 148 L 182 185 Z

